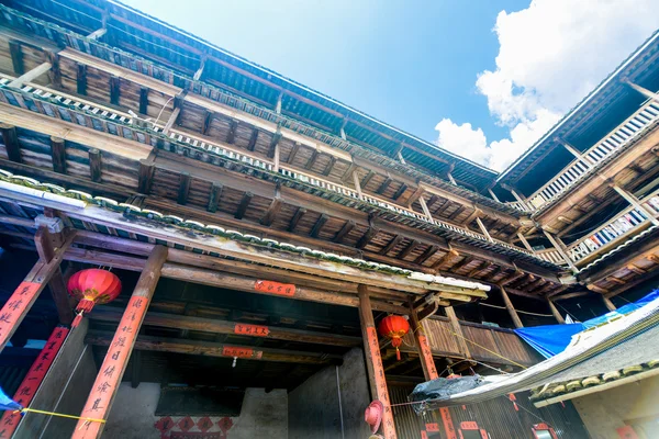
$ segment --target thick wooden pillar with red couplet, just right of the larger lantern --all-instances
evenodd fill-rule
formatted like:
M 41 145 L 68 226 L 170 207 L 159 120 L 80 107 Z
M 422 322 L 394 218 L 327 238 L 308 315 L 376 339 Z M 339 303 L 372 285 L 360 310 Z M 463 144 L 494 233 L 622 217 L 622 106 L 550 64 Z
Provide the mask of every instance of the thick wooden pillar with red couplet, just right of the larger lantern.
M 108 348 L 103 364 L 80 414 L 81 417 L 108 418 L 166 259 L 167 247 L 155 246 Z M 71 438 L 99 438 L 104 425 L 104 423 L 80 419 Z

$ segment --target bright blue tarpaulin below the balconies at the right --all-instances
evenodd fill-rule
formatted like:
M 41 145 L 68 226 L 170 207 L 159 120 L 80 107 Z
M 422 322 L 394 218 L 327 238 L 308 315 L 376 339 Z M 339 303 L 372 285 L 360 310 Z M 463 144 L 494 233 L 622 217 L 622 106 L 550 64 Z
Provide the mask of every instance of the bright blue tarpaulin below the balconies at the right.
M 634 303 L 621 306 L 616 311 L 612 311 L 600 317 L 591 318 L 590 320 L 585 320 L 583 323 L 534 326 L 529 328 L 515 329 L 515 333 L 535 350 L 540 352 L 543 357 L 550 358 L 562 352 L 570 344 L 574 334 L 579 334 L 584 329 L 605 324 L 612 318 L 629 314 L 657 299 L 659 299 L 659 290 L 652 291 L 650 294 Z

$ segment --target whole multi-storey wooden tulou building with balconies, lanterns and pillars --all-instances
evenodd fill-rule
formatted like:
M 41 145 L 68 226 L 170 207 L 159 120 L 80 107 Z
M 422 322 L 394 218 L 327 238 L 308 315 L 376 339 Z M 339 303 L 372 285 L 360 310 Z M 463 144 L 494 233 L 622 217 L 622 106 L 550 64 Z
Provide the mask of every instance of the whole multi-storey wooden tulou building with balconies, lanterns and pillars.
M 118 1 L 1 0 L 0 438 L 652 437 L 651 358 L 606 413 L 407 396 L 657 286 L 657 90 L 659 33 L 498 173 Z

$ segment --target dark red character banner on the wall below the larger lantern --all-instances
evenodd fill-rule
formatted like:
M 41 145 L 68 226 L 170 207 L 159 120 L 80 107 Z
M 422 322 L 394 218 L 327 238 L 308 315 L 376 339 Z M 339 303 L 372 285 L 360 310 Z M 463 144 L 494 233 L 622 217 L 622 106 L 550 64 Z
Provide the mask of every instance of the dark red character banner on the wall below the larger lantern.
M 44 381 L 46 372 L 51 369 L 51 364 L 57 357 L 57 352 L 62 348 L 69 330 L 65 327 L 56 327 L 46 341 L 46 345 L 32 363 L 27 374 L 21 382 L 19 390 L 14 394 L 13 399 L 23 407 L 29 407 L 38 386 Z M 21 421 L 21 414 L 5 410 L 2 419 L 0 419 L 0 438 L 10 438 L 15 431 Z

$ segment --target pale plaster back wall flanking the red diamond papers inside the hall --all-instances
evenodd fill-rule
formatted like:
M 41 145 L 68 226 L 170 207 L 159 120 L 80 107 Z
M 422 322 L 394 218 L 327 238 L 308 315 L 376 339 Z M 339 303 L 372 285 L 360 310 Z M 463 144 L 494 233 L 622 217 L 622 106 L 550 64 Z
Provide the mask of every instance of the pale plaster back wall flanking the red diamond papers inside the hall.
M 122 383 L 112 410 L 103 439 L 160 439 L 160 431 L 155 423 L 160 416 L 154 415 L 160 384 L 141 383 L 132 389 Z M 288 394 L 286 390 L 273 390 L 266 393 L 263 389 L 247 389 L 241 416 L 232 418 L 233 427 L 228 430 L 228 439 L 286 439 L 288 438 Z

